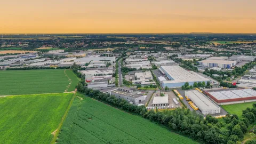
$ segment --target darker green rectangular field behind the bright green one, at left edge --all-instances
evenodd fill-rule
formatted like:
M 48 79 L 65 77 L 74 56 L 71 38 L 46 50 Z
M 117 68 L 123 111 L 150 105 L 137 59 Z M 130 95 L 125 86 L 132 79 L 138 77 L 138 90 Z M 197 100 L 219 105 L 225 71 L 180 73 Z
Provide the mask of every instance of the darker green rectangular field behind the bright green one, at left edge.
M 79 81 L 71 69 L 4 70 L 0 79 L 0 95 L 74 91 Z

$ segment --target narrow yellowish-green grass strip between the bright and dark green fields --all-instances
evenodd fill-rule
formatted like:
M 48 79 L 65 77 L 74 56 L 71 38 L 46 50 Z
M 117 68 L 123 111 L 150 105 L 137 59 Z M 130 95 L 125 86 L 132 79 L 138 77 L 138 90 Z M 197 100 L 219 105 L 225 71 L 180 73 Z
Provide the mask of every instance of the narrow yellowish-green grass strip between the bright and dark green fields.
M 52 140 L 51 140 L 50 143 L 52 143 L 52 144 L 53 144 L 53 143 L 56 143 L 56 140 L 57 140 L 58 135 L 59 135 L 59 133 L 60 133 L 61 127 L 62 127 L 62 125 L 63 125 L 63 123 L 64 123 L 64 121 L 65 121 L 65 119 L 66 119 L 66 117 L 67 117 L 67 115 L 68 115 L 68 111 L 69 111 L 69 109 L 71 108 L 71 106 L 72 106 L 73 101 L 74 101 L 75 98 L 76 98 L 76 93 L 74 93 L 73 98 L 71 99 L 71 101 L 70 101 L 70 103 L 69 103 L 69 105 L 68 105 L 68 108 L 67 108 L 67 110 L 65 111 L 65 114 L 64 114 L 63 117 L 61 118 L 61 122 L 60 122 L 58 128 L 53 132 L 53 133 L 54 133 L 54 134 L 53 134 L 53 138 L 52 138 Z

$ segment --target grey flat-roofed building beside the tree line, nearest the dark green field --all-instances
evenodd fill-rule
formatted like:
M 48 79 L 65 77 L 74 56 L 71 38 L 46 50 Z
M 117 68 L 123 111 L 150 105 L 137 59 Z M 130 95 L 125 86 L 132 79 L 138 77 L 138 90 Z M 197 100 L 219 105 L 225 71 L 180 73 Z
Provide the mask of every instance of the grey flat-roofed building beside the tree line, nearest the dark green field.
M 146 100 L 146 95 L 143 95 L 141 92 L 134 92 L 133 90 L 125 89 L 123 87 L 119 87 L 118 90 L 111 91 L 110 94 L 114 95 L 118 99 L 124 99 L 135 105 Z

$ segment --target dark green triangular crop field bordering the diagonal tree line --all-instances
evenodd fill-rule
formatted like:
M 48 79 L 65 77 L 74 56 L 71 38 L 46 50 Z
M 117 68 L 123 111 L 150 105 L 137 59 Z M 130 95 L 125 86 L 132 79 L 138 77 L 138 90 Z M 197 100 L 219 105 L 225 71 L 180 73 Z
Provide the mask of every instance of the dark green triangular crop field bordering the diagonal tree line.
M 77 94 L 58 143 L 196 143 L 147 119 Z

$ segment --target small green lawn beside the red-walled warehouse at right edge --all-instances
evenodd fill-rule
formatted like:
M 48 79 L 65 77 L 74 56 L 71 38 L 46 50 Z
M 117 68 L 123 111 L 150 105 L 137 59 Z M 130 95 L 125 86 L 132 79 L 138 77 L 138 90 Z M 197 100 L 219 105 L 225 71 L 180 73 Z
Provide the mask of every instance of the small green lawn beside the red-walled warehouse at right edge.
M 229 114 L 235 114 L 238 117 L 242 117 L 242 111 L 246 108 L 252 108 L 252 103 L 256 103 L 256 102 L 237 103 L 233 105 L 222 105 L 222 108 L 225 109 Z

